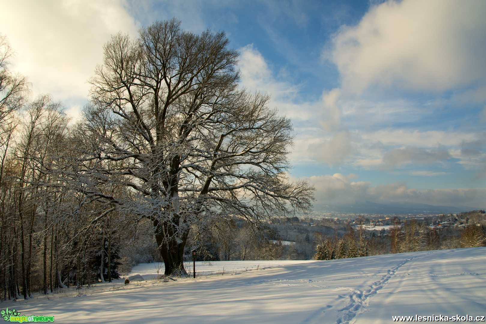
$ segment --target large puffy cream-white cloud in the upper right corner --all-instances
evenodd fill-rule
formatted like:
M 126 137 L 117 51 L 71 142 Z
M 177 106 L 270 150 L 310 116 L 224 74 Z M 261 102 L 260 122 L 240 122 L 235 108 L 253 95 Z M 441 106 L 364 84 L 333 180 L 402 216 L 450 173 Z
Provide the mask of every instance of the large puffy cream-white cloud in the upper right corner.
M 325 57 L 343 89 L 372 85 L 443 91 L 485 81 L 486 2 L 403 0 L 372 6 L 333 37 Z

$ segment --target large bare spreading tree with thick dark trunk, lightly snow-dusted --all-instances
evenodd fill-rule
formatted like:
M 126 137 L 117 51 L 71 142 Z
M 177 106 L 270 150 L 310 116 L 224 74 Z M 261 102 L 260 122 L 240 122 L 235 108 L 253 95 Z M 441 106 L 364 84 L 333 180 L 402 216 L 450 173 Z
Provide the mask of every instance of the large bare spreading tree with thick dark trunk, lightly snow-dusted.
M 193 225 L 311 207 L 312 186 L 286 176 L 292 124 L 268 96 L 238 87 L 237 59 L 224 33 L 195 35 L 172 19 L 137 39 L 112 36 L 90 81 L 63 172 L 86 197 L 149 219 L 165 274 L 185 273 Z

